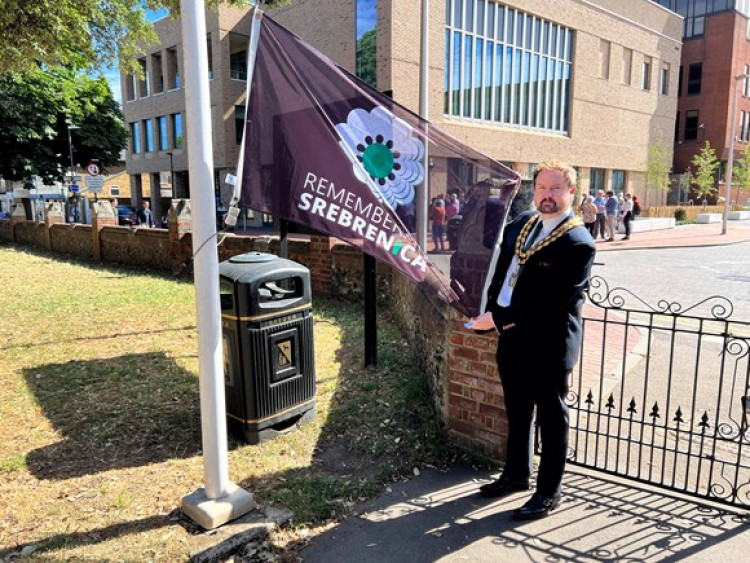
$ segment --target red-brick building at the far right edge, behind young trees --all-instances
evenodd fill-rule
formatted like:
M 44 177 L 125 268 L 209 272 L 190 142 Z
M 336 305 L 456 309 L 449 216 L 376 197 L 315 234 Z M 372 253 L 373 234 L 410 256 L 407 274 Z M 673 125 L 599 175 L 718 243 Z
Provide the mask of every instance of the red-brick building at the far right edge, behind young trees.
M 683 46 L 674 132 L 675 174 L 690 167 L 706 141 L 722 161 L 729 158 L 733 92 L 737 89 L 734 158 L 750 142 L 750 83 L 735 80 L 750 74 L 750 2 L 748 0 L 654 0 L 684 17 Z M 674 194 L 685 201 L 683 187 Z M 736 193 L 732 194 L 736 198 Z

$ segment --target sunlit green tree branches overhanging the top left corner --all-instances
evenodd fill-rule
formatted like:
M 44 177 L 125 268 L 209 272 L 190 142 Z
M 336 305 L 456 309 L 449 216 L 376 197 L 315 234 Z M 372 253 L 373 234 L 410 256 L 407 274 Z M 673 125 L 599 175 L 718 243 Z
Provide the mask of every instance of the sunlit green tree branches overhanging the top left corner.
M 220 0 L 207 0 L 215 7 Z M 271 0 L 273 6 L 288 0 Z M 224 0 L 248 6 L 250 0 Z M 179 0 L 6 0 L 0 9 L 0 73 L 44 65 L 138 69 L 144 46 L 156 42 L 145 8 L 179 13 Z

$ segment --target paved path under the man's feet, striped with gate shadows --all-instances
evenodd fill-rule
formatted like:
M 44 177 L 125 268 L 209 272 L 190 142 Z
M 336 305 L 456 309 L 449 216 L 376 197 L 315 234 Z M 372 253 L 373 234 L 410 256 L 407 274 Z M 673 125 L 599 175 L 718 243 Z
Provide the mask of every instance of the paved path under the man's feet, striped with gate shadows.
M 478 478 L 483 479 L 478 479 Z M 361 507 L 300 552 L 316 562 L 746 561 L 747 513 L 569 469 L 564 500 L 545 519 L 518 522 L 528 493 L 476 494 L 490 475 L 432 470 Z

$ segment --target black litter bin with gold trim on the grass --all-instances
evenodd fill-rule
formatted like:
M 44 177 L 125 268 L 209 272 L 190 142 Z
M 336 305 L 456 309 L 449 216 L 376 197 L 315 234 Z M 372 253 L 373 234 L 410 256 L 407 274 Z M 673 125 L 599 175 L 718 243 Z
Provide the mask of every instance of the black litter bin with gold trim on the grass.
M 230 430 L 257 444 L 315 417 L 310 270 L 251 252 L 219 264 Z

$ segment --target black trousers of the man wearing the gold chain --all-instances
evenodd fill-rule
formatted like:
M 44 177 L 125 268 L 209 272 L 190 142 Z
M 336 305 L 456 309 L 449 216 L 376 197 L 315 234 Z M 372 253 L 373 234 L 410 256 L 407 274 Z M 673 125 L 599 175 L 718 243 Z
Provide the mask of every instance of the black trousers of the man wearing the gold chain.
M 565 395 L 570 372 L 524 365 L 524 358 L 519 356 L 522 355 L 517 350 L 503 354 L 498 348 L 497 365 L 508 414 L 508 457 L 503 474 L 511 479 L 531 476 L 536 407 L 542 445 L 537 491 L 545 497 L 557 496 L 561 491 L 568 453 L 569 420 Z

